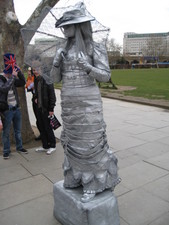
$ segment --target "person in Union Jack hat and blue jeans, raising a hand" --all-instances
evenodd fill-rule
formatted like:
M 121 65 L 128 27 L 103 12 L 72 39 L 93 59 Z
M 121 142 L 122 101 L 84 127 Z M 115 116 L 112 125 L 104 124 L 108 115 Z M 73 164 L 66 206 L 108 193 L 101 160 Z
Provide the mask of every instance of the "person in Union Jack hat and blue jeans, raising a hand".
M 8 159 L 10 155 L 10 129 L 13 124 L 16 141 L 16 150 L 28 153 L 22 146 L 21 136 L 21 112 L 17 87 L 25 85 L 25 78 L 16 64 L 15 55 L 7 53 L 4 55 L 4 73 L 0 75 L 0 111 L 3 112 L 3 157 Z

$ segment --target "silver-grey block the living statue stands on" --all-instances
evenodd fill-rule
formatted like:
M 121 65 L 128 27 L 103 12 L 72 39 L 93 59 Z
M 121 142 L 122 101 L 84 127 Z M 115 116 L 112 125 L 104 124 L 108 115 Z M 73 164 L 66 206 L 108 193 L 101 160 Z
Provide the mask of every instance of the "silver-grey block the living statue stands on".
M 62 225 L 120 225 L 116 197 L 110 190 L 82 203 L 82 187 L 67 189 L 63 181 L 54 184 L 54 216 Z

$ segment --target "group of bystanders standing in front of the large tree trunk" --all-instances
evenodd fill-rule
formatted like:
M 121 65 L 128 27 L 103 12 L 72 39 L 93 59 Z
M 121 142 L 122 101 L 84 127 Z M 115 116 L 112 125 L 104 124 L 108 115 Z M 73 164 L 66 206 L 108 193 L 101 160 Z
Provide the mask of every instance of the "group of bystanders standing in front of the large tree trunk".
M 23 148 L 21 127 L 22 115 L 17 87 L 26 87 L 32 92 L 32 107 L 37 119 L 42 147 L 37 152 L 46 151 L 49 155 L 56 150 L 56 138 L 49 117 L 54 114 L 56 96 L 53 84 L 46 84 L 43 77 L 28 68 L 28 78 L 16 64 L 15 55 L 7 53 L 4 56 L 3 74 L 0 74 L 0 130 L 2 130 L 3 158 L 9 159 L 11 153 L 10 130 L 13 125 L 16 151 L 27 154 Z

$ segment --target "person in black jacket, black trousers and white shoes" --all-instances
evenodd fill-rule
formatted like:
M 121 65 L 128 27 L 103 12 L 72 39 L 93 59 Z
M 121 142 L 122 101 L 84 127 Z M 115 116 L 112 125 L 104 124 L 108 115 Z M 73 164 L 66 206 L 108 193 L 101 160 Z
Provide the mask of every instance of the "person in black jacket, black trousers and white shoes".
M 34 101 L 37 104 L 37 120 L 41 130 L 42 147 L 37 152 L 46 151 L 50 155 L 56 150 L 56 138 L 50 126 L 49 117 L 54 115 L 56 96 L 53 84 L 47 84 L 44 78 L 34 69 Z

